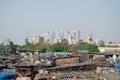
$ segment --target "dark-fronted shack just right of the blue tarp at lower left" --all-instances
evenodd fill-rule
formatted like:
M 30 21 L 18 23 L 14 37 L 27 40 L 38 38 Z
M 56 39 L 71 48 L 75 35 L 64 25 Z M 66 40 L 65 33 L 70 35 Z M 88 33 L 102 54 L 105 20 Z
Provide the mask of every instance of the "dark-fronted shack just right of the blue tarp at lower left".
M 15 80 L 34 80 L 34 76 L 37 73 L 38 65 L 31 61 L 19 61 L 14 65 Z

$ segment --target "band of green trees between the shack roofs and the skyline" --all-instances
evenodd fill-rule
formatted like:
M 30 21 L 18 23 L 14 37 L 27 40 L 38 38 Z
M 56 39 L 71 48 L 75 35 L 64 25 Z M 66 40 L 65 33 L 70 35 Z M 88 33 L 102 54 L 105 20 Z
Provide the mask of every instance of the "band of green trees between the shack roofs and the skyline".
M 2 44 L 1 44 L 2 46 Z M 78 42 L 76 44 L 69 45 L 66 39 L 63 39 L 59 43 L 50 44 L 46 43 L 37 43 L 33 44 L 30 42 L 26 42 L 24 45 L 15 45 L 12 41 L 9 45 L 0 47 L 0 52 L 6 53 L 15 53 L 16 51 L 25 50 L 25 51 L 41 51 L 45 52 L 67 52 L 67 51 L 74 51 L 77 50 L 88 50 L 89 52 L 99 52 L 98 46 L 96 44 L 90 44 L 86 42 Z

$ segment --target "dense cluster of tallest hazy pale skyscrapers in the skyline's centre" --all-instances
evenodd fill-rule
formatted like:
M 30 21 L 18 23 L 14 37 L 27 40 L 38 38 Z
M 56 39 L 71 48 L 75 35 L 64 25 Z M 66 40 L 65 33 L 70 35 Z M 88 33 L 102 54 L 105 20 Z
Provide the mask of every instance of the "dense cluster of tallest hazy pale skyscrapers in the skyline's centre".
M 44 42 L 57 43 L 63 39 L 68 40 L 69 44 L 78 42 L 80 40 L 80 30 L 53 30 L 44 33 Z

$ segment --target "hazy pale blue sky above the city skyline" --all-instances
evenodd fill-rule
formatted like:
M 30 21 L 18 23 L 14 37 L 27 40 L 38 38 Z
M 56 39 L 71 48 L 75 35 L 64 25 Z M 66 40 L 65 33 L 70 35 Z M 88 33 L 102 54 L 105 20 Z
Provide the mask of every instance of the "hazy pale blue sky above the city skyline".
M 0 0 L 0 40 L 67 29 L 120 42 L 120 0 Z

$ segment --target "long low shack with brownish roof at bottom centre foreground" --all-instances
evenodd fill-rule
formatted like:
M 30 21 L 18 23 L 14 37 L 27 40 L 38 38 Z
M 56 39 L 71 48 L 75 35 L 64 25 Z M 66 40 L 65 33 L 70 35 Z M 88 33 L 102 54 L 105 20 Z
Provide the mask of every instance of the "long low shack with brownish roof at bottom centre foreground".
M 42 71 L 39 71 L 34 80 L 64 80 L 65 78 L 70 79 L 74 77 L 76 77 L 77 80 L 83 79 L 83 77 L 84 79 L 88 79 L 88 77 L 85 76 L 89 72 L 94 73 L 95 68 L 95 64 L 89 62 L 85 62 L 83 64 L 66 64 L 51 68 L 44 68 Z M 82 75 L 84 73 L 86 75 Z M 90 75 L 92 74 L 89 74 L 88 76 Z M 93 77 L 91 77 L 90 80 L 92 79 Z

